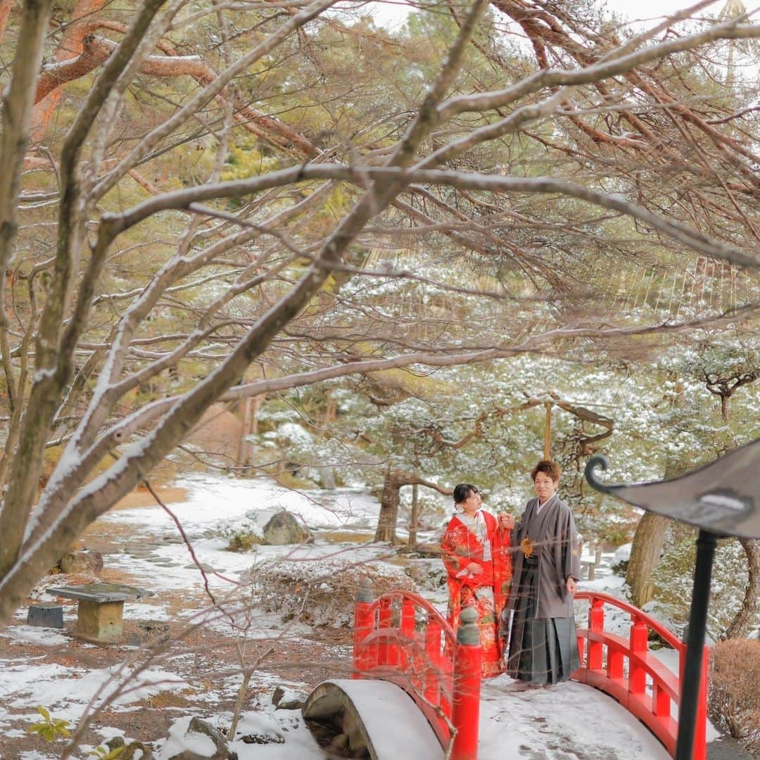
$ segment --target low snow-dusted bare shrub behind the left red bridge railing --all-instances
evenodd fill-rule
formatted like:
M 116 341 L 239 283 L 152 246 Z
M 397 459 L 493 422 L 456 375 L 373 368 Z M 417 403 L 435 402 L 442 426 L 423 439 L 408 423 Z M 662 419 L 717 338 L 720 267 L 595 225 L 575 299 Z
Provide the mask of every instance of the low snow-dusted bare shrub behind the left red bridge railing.
M 364 579 L 376 595 L 391 589 L 417 590 L 400 567 L 350 559 L 268 559 L 242 577 L 258 605 L 280 613 L 283 622 L 296 619 L 335 627 L 353 625 L 353 603 Z

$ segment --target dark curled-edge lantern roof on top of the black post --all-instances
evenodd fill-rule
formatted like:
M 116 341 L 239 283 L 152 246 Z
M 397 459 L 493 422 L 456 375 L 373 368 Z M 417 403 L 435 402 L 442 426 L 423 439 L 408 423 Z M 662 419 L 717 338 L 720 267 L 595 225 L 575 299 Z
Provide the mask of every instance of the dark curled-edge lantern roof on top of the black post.
M 629 504 L 724 536 L 760 538 L 760 439 L 670 480 L 607 486 L 594 470 L 607 460 L 594 456 L 586 480 L 597 491 Z

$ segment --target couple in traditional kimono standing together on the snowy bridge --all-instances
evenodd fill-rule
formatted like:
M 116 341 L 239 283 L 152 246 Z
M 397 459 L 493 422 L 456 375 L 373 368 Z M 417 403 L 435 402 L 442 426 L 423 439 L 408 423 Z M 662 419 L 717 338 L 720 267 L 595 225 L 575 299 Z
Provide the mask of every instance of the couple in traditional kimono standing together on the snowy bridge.
M 578 534 L 556 489 L 562 473 L 549 459 L 530 472 L 537 496 L 520 521 L 481 509 L 470 483 L 454 488 L 458 514 L 443 539 L 448 572 L 448 622 L 462 607 L 477 612 L 483 676 L 506 670 L 533 684 L 566 681 L 580 666 L 573 596 L 580 578 Z

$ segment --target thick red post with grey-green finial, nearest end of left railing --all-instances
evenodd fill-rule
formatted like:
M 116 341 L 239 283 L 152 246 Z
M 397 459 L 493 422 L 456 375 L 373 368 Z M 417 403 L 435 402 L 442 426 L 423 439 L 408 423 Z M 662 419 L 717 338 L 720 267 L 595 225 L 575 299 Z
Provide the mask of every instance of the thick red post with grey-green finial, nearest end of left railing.
M 451 760 L 477 760 L 477 739 L 480 727 L 480 680 L 483 650 L 477 613 L 472 607 L 461 612 L 457 646 L 454 651 L 454 695 L 451 723 L 457 730 Z

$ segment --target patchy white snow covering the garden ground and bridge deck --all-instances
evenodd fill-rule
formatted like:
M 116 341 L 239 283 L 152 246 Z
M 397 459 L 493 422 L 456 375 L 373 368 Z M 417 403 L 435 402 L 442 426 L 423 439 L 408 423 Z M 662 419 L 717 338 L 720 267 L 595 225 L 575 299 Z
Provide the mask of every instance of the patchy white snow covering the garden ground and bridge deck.
M 216 477 L 194 477 L 179 483 L 188 489 L 185 502 L 174 503 L 169 508 L 182 524 L 188 538 L 192 540 L 199 562 L 207 570 L 207 578 L 212 591 L 223 591 L 229 587 L 229 578 L 235 581 L 242 571 L 255 562 L 274 557 L 288 559 L 324 558 L 338 554 L 356 562 L 382 562 L 387 555 L 387 546 L 352 543 L 332 543 L 322 540 L 320 531 L 345 529 L 356 532 L 369 531 L 375 524 L 379 505 L 365 494 L 355 491 L 334 491 L 327 495 L 296 493 L 283 489 L 268 480 L 227 480 Z M 238 554 L 224 551 L 226 540 L 218 535 L 220 524 L 237 521 L 245 513 L 254 519 L 260 512 L 263 521 L 274 511 L 287 508 L 299 515 L 312 530 L 317 540 L 308 546 L 259 546 L 255 553 Z M 193 591 L 200 594 L 203 576 L 192 562 L 192 557 L 184 543 L 177 541 L 173 519 L 160 508 L 135 508 L 113 511 L 101 518 L 103 523 L 113 524 L 120 529 L 128 527 L 129 543 L 120 553 L 106 556 L 106 566 L 129 572 L 137 577 L 149 577 L 154 591 Z M 121 530 L 120 534 L 124 534 Z M 615 593 L 621 580 L 610 574 L 611 556 L 606 556 L 603 567 L 597 572 L 597 580 L 582 582 L 581 589 Z M 418 560 L 435 565 L 435 560 Z M 218 573 L 215 575 L 211 569 Z M 441 606 L 445 593 L 441 588 L 432 587 L 423 593 L 429 595 L 436 605 Z M 160 595 L 160 594 L 159 594 Z M 166 619 L 163 603 L 150 600 L 125 605 L 125 619 L 144 618 Z M 190 613 L 195 614 L 191 610 Z M 20 611 L 19 617 L 23 617 Z M 73 619 L 73 612 L 67 619 Z M 625 621 L 615 619 L 615 624 L 625 625 Z M 217 625 L 223 623 L 217 622 Z M 274 635 L 283 625 L 277 616 L 261 615 L 255 622 L 255 635 Z M 299 624 L 289 631 L 291 637 L 309 634 L 307 626 Z M 88 703 L 97 705 L 102 694 L 99 689 L 109 682 L 108 689 L 123 680 L 118 668 L 85 670 L 81 665 L 58 664 L 42 666 L 35 657 L 23 654 L 23 644 L 41 647 L 65 648 L 68 636 L 60 631 L 37 629 L 21 624 L 11 625 L 0 631 L 0 636 L 19 644 L 19 655 L 0 661 L 0 736 L 20 736 L 18 711 L 30 723 L 40 720 L 37 705 L 44 705 L 53 717 L 62 717 L 76 724 Z M 125 651 L 128 654 L 128 651 Z M 179 657 L 182 657 L 180 655 Z M 160 667 L 151 667 L 140 673 L 130 689 L 112 705 L 112 711 L 135 709 L 135 702 L 156 695 L 159 692 L 181 692 L 188 686 L 176 670 L 179 659 L 169 657 Z M 676 667 L 673 657 L 663 655 L 669 667 Z M 174 666 L 174 667 L 173 667 Z M 266 666 L 264 665 L 264 668 Z M 252 681 L 266 686 L 267 673 L 258 671 Z M 239 678 L 231 679 L 220 688 L 234 693 Z M 271 686 L 277 679 L 271 678 Z M 298 682 L 293 683 L 297 688 Z M 278 743 L 244 743 L 242 739 L 233 743 L 233 749 L 240 760 L 309 760 L 323 758 L 315 741 L 303 724 L 299 711 L 275 711 L 274 705 L 266 700 L 253 701 L 246 705 L 242 714 L 238 736 L 255 733 L 276 737 Z M 11 716 L 7 708 L 13 708 Z M 197 714 L 211 724 L 229 723 L 229 714 L 214 711 L 214 698 L 198 695 L 183 714 Z M 16 723 L 11 726 L 11 718 Z M 182 717 L 174 724 L 169 739 L 155 737 L 160 746 L 159 758 L 169 758 L 182 749 L 201 752 L 202 739 L 197 734 L 185 736 L 189 718 Z M 109 730 L 100 722 L 103 739 L 118 731 Z M 60 746 L 60 745 L 59 745 Z M 59 746 L 51 746 L 49 755 L 38 752 L 24 752 L 19 760 L 43 760 L 58 756 Z M 89 749 L 83 747 L 80 757 Z M 648 731 L 611 698 L 577 683 L 565 683 L 549 689 L 519 691 L 508 676 L 500 676 L 483 686 L 480 714 L 480 758 L 481 760 L 501 760 L 503 757 L 530 758 L 530 760 L 562 760 L 562 758 L 647 758 L 658 760 L 667 758 L 667 753 Z M 2 760 L 11 760 L 0 749 Z M 15 758 L 14 758 L 15 760 Z M 394 758 L 395 760 L 395 758 Z

